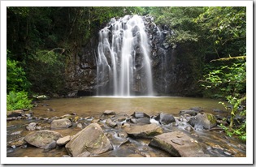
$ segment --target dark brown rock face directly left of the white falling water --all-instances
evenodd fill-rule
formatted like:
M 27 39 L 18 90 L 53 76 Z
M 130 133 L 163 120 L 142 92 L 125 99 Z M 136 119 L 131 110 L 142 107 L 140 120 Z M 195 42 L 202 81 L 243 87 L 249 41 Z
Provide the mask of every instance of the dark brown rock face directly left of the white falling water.
M 66 67 L 65 89 L 68 97 L 93 96 L 96 94 L 96 50 L 98 34 L 89 43 L 76 49 Z

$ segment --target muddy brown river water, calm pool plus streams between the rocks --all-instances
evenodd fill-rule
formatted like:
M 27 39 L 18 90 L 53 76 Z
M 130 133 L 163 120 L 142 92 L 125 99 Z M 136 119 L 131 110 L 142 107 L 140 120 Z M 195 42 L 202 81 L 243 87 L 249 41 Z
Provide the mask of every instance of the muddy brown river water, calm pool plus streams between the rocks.
M 61 117 L 65 114 L 72 113 L 80 118 L 80 121 L 88 125 L 93 119 L 101 118 L 105 110 L 113 110 L 116 115 L 131 115 L 135 111 L 144 112 L 150 116 L 158 113 L 171 113 L 178 117 L 180 110 L 190 109 L 193 107 L 200 107 L 203 112 L 215 113 L 213 109 L 224 110 L 219 101 L 206 98 L 190 98 L 179 96 L 161 96 L 161 97 L 129 97 L 121 98 L 115 96 L 86 96 L 79 98 L 60 98 L 44 101 L 37 101 L 37 107 L 33 107 L 33 118 L 20 119 L 7 122 L 7 144 L 27 135 L 30 131 L 25 129 L 29 122 L 37 122 L 44 129 L 50 129 L 50 124 L 47 122 L 49 118 L 54 116 Z M 177 127 L 168 127 L 169 129 L 177 129 Z M 75 135 L 80 128 L 76 125 L 58 131 L 63 136 Z M 109 131 L 109 129 L 104 129 Z M 112 131 L 115 133 L 118 130 Z M 168 131 L 168 130 L 167 130 Z M 245 156 L 245 143 L 241 143 L 237 139 L 229 139 L 221 131 L 194 131 L 196 139 L 202 142 L 202 149 L 210 156 L 231 156 L 225 154 L 223 150 L 230 148 L 236 149 L 236 154 L 232 156 Z M 114 136 L 113 135 L 113 136 Z M 191 135 L 191 134 L 190 134 Z M 200 137 L 198 137 L 200 136 Z M 150 139 L 129 139 L 128 143 L 122 146 L 115 146 L 111 152 L 106 152 L 103 157 L 127 157 L 127 156 L 150 156 L 150 157 L 164 157 L 170 156 L 167 152 L 151 148 L 148 146 Z M 218 146 L 216 146 L 218 145 Z M 219 149 L 213 149 L 220 147 Z M 225 148 L 225 149 L 224 149 Z M 139 150 L 139 151 L 137 151 Z M 144 153 L 138 153 L 144 152 Z M 61 157 L 67 155 L 65 148 L 56 148 L 50 152 L 44 152 L 41 148 L 33 146 L 26 146 L 25 148 L 11 148 L 7 147 L 7 157 Z

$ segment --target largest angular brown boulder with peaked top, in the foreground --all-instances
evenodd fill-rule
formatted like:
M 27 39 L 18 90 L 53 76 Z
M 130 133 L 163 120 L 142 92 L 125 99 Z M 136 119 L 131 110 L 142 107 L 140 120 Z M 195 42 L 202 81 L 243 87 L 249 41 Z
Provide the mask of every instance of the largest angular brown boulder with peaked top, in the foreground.
M 100 154 L 113 149 L 110 140 L 98 123 L 91 123 L 78 132 L 67 144 L 66 150 L 71 156 L 79 156 L 83 152 Z

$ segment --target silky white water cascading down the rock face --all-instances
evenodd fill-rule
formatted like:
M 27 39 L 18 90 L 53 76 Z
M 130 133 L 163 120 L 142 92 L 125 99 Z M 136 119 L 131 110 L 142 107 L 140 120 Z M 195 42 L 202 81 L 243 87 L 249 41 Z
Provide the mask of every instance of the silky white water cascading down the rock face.
M 99 32 L 98 96 L 153 96 L 150 45 L 139 15 L 126 15 Z

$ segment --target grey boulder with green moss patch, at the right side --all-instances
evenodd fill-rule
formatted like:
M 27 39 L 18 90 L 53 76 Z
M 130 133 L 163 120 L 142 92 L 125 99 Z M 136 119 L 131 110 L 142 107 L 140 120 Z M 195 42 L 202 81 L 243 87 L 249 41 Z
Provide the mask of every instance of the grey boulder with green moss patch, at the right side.
M 197 113 L 197 115 L 194 118 L 191 118 L 188 123 L 196 130 L 209 130 L 217 125 L 217 119 L 211 113 Z

